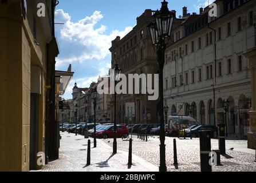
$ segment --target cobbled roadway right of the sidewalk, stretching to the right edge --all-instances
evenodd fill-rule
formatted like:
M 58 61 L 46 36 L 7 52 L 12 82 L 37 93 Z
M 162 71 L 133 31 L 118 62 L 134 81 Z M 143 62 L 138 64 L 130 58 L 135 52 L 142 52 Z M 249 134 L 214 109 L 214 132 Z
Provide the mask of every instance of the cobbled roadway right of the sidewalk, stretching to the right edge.
M 166 137 L 166 164 L 168 171 L 200 171 L 200 147 L 199 138 L 186 140 L 176 138 L 178 167 L 173 165 L 173 140 L 172 137 Z M 112 145 L 113 140 L 104 140 L 105 143 Z M 110 142 L 109 142 L 110 141 Z M 159 136 L 149 136 L 148 142 L 137 139 L 133 136 L 132 153 L 159 166 Z M 117 140 L 119 150 L 128 151 L 128 141 Z M 218 140 L 211 140 L 211 148 L 218 149 Z M 234 150 L 230 150 L 234 148 Z M 221 156 L 223 166 L 213 166 L 212 171 L 220 172 L 254 172 L 256 171 L 255 150 L 247 149 L 247 141 L 227 140 L 226 156 Z

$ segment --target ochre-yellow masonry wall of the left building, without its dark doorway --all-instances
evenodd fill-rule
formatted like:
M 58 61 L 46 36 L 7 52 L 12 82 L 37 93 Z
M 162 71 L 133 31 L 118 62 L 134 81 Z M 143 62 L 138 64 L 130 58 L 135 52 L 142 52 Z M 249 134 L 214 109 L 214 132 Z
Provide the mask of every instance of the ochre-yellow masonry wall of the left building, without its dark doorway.
M 31 65 L 42 69 L 38 152 L 45 151 L 47 41 L 38 23 L 40 46 L 34 43 L 29 19 L 23 21 L 18 0 L 0 6 L 0 171 L 29 171 Z

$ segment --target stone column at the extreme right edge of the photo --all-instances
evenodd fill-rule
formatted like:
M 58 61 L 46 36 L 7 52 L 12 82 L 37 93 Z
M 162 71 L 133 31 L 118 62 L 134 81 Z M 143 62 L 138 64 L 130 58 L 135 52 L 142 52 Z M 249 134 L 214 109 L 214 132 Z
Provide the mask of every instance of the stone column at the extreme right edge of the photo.
M 247 134 L 248 148 L 255 149 L 256 138 L 256 50 L 245 54 L 245 57 L 250 60 L 251 70 L 251 111 L 250 115 L 250 131 Z

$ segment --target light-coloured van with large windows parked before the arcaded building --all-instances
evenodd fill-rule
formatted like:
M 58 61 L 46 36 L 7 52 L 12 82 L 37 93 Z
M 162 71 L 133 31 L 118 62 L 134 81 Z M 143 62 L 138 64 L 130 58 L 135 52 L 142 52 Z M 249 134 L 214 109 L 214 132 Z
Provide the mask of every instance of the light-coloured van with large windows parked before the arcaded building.
M 169 116 L 167 125 L 167 134 L 171 136 L 178 136 L 180 130 L 187 129 L 192 125 L 199 124 L 194 118 L 190 116 Z

